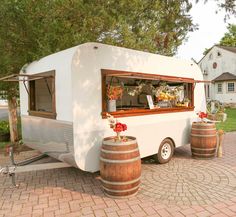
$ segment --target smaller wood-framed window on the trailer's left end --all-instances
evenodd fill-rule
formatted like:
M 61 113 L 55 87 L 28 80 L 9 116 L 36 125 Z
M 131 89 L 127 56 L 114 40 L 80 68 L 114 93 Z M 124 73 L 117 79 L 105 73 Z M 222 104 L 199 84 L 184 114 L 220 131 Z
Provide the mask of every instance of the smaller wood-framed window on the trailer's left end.
M 55 72 L 37 76 L 42 77 L 29 81 L 29 115 L 55 119 Z

